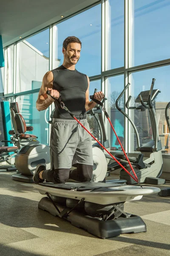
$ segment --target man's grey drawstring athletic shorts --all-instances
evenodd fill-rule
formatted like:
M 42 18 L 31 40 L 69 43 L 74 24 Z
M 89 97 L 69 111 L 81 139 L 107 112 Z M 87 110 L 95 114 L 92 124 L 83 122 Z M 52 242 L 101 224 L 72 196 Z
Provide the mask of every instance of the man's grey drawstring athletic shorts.
M 80 122 L 90 131 L 87 119 Z M 75 163 L 93 166 L 91 135 L 76 120 L 53 119 L 50 154 L 51 169 L 70 169 Z

